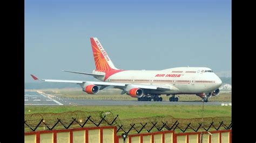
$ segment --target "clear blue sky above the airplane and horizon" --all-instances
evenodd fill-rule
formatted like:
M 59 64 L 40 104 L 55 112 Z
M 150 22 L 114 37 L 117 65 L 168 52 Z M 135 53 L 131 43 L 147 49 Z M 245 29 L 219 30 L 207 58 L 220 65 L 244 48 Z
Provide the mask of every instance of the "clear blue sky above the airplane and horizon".
M 97 37 L 120 69 L 231 71 L 231 1 L 25 1 L 25 82 L 91 80 Z

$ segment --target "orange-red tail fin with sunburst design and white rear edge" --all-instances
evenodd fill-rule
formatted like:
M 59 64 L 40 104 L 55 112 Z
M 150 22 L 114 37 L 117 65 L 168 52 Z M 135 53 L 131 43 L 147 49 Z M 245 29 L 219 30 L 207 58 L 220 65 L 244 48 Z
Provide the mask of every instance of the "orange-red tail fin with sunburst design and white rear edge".
M 97 38 L 91 38 L 91 46 L 97 70 L 117 69 L 114 67 L 112 61 L 109 56 L 107 56 L 107 53 Z

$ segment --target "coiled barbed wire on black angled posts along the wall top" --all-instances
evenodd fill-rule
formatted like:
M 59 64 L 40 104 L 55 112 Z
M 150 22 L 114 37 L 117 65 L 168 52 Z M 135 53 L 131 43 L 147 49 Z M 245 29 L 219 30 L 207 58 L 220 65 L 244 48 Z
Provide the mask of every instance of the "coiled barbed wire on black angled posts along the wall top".
M 25 114 L 25 131 L 53 130 L 60 128 L 77 128 L 92 126 L 117 126 L 117 132 L 151 132 L 163 130 L 205 131 L 230 129 L 231 117 L 174 118 L 172 116 L 156 116 L 146 118 L 119 119 L 111 111 L 73 111 L 62 113 L 33 113 Z

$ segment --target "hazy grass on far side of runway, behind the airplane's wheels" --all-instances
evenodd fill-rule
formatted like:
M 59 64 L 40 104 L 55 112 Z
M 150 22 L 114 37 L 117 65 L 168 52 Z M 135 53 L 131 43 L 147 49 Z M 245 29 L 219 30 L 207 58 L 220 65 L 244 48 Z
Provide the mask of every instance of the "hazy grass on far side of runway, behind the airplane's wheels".
M 79 88 L 71 89 L 46 89 L 41 90 L 46 94 L 52 94 L 55 96 L 60 96 L 63 98 L 72 98 L 72 99 L 97 99 L 97 100 L 114 100 L 114 101 L 137 101 L 137 98 L 132 98 L 129 95 L 120 95 L 121 90 L 118 89 L 106 89 L 99 91 L 97 95 L 89 95 L 83 92 Z M 223 101 L 231 102 L 232 94 L 230 92 L 220 92 L 218 96 L 212 96 L 208 101 Z M 163 101 L 169 101 L 169 97 L 162 95 Z M 196 95 L 178 95 L 179 101 L 201 101 L 201 98 Z

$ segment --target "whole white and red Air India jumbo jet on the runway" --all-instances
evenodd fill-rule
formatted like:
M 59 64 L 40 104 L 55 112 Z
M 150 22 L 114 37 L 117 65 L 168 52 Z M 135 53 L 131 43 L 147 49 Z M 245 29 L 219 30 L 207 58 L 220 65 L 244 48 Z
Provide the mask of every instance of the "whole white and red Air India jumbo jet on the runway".
M 206 67 L 176 67 L 163 70 L 123 70 L 114 66 L 97 38 L 90 38 L 96 69 L 92 73 L 68 71 L 95 77 L 99 81 L 73 81 L 40 79 L 45 82 L 65 82 L 79 84 L 87 94 L 98 94 L 99 90 L 112 86 L 120 89 L 138 101 L 163 101 L 161 95 L 170 96 L 170 102 L 178 102 L 176 95 L 194 94 L 202 102 L 219 95 L 222 84 L 220 78 Z M 39 80 L 31 75 L 33 80 Z

